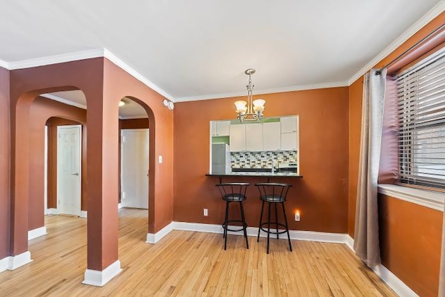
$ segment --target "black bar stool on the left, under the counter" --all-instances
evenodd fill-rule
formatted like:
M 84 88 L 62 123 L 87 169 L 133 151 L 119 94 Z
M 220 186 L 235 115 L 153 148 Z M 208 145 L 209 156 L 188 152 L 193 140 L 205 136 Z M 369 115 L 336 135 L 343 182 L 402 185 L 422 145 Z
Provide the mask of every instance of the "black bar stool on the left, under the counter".
M 244 218 L 244 209 L 243 209 L 243 201 L 247 199 L 245 196 L 245 191 L 247 191 L 248 184 L 247 182 L 227 182 L 224 184 L 217 184 L 218 190 L 220 190 L 220 193 L 222 195 L 223 200 L 225 200 L 225 219 L 223 223 L 224 228 L 224 234 L 223 238 L 224 240 L 224 250 L 227 248 L 227 230 L 232 232 L 238 232 L 243 231 L 244 237 L 245 237 L 245 245 L 247 248 L 249 248 L 249 242 L 248 242 L 248 232 L 247 227 L 248 224 L 245 223 Z M 229 206 L 230 202 L 239 202 L 239 208 L 241 211 L 241 220 L 229 220 Z M 228 228 L 229 223 L 241 223 L 243 227 L 241 229 L 232 230 Z

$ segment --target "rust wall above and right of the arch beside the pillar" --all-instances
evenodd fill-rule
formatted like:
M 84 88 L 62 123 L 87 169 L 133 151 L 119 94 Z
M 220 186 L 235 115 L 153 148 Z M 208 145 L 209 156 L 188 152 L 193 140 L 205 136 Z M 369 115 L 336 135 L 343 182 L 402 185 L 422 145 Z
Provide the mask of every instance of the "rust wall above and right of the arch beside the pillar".
M 116 102 L 122 97 L 129 97 L 144 106 L 147 111 L 150 129 L 148 231 L 156 233 L 170 224 L 173 218 L 173 112 L 163 106 L 164 97 L 106 59 L 104 95 Z M 116 128 L 113 130 L 116 143 L 118 143 L 117 112 L 116 105 L 114 113 Z M 159 156 L 163 156 L 161 164 L 157 161 Z

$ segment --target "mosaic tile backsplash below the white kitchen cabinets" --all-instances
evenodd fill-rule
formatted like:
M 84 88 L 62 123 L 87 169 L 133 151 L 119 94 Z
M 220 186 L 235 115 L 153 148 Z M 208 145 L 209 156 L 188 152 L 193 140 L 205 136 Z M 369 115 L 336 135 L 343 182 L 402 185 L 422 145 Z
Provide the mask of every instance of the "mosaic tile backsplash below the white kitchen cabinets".
M 232 168 L 270 168 L 272 161 L 275 166 L 279 163 L 297 163 L 297 151 L 277 152 L 231 152 Z

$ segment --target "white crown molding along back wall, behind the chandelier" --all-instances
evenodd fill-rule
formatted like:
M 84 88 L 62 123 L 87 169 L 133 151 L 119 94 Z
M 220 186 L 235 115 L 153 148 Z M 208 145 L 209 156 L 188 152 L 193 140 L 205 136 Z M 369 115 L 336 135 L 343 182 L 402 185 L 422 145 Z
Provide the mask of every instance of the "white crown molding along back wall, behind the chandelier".
M 321 88 L 339 88 L 339 87 L 347 87 L 347 86 L 349 86 L 348 81 L 339 81 L 339 82 L 334 82 L 334 83 L 314 83 L 314 84 L 301 85 L 301 86 L 255 90 L 255 95 L 285 93 L 285 92 L 293 92 L 293 91 L 298 91 L 298 90 L 316 90 L 316 89 L 321 89 Z M 245 91 L 243 91 L 243 92 L 235 92 L 235 93 L 221 93 L 221 94 L 213 94 L 213 95 L 180 97 L 180 98 L 176 98 L 175 102 L 188 102 L 188 101 L 220 99 L 220 98 L 230 98 L 230 97 L 242 97 L 245 95 L 246 95 L 246 93 L 245 93 Z

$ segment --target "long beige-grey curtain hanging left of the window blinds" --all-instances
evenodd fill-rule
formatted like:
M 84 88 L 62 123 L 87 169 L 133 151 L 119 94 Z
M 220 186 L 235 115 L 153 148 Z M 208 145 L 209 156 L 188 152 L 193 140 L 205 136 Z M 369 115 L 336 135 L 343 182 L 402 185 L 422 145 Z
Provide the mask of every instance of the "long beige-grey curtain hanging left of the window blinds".
M 371 70 L 364 79 L 354 250 L 369 267 L 380 264 L 377 187 L 386 77 L 386 70 Z

